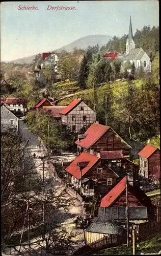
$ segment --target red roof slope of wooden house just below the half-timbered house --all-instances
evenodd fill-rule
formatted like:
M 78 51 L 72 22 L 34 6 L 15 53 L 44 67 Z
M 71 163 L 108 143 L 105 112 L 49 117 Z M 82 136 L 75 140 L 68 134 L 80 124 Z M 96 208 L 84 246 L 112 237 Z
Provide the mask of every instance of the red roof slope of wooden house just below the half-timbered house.
M 89 129 L 84 133 L 87 135 L 80 142 L 75 141 L 78 146 L 84 147 L 88 150 L 106 131 L 110 129 L 110 126 L 105 126 L 99 123 L 93 123 Z

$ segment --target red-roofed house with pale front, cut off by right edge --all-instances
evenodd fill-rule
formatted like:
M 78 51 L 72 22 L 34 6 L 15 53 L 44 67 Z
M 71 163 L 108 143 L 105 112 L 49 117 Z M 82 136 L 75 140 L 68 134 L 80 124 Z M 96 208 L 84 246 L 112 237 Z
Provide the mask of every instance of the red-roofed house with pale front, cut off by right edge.
M 140 152 L 139 174 L 144 178 L 160 183 L 160 150 L 159 148 L 147 144 Z

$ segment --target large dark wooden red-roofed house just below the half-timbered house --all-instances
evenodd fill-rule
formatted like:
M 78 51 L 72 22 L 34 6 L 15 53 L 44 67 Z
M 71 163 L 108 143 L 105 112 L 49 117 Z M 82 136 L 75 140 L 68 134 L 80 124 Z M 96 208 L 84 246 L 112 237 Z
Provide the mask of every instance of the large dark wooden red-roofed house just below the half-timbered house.
M 75 141 L 78 153 L 86 151 L 97 155 L 102 151 L 122 151 L 124 158 L 130 158 L 131 146 L 125 142 L 110 126 L 93 123 L 89 129 Z

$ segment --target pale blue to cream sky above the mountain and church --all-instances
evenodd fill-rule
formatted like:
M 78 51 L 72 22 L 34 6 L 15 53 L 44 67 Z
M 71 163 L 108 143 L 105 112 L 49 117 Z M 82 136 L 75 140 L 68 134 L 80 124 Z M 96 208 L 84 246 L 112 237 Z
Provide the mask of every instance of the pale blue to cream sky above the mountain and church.
M 57 6 L 74 9 L 51 9 Z M 144 26 L 158 26 L 158 1 L 3 2 L 1 61 L 53 51 L 87 35 L 121 37 L 128 33 L 130 16 L 133 34 Z

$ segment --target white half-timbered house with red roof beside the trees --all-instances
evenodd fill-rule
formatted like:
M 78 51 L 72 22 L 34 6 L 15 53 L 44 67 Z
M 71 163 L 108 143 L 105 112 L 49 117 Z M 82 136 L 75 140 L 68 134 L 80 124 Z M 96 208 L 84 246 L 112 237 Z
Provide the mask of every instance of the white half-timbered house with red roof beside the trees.
M 96 121 L 96 113 L 82 99 L 74 99 L 60 114 L 62 123 L 74 133 Z

